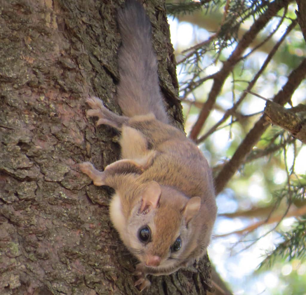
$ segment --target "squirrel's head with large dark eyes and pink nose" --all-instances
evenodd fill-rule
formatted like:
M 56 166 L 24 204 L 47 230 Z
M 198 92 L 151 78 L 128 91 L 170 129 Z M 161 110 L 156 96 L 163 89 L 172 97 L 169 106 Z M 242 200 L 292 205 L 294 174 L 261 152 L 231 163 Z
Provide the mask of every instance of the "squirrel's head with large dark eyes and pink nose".
M 175 188 L 147 183 L 136 198 L 121 239 L 150 268 L 175 268 L 197 247 L 194 232 L 200 197 L 187 198 Z

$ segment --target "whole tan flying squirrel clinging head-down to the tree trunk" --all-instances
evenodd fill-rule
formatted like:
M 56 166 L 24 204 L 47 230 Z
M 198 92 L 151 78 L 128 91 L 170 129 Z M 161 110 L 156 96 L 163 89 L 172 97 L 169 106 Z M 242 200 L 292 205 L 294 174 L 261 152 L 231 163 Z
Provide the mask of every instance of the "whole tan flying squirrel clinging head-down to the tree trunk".
M 89 97 L 87 116 L 97 117 L 97 126 L 121 132 L 121 160 L 103 172 L 90 162 L 79 166 L 95 185 L 114 188 L 110 219 L 139 260 L 135 286 L 144 290 L 151 284 L 148 274 L 173 273 L 206 253 L 217 206 L 207 160 L 181 130 L 169 124 L 151 23 L 137 0 L 127 0 L 118 10 L 118 27 L 122 44 L 116 101 L 123 115 Z

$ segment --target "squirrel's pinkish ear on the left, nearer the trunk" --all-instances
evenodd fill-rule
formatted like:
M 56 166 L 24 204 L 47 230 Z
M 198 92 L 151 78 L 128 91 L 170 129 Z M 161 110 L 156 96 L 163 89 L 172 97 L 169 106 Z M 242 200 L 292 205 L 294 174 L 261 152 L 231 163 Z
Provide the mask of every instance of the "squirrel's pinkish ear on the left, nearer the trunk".
M 147 211 L 149 208 L 155 209 L 158 206 L 162 189 L 155 181 L 150 181 L 142 193 L 142 204 L 140 212 Z

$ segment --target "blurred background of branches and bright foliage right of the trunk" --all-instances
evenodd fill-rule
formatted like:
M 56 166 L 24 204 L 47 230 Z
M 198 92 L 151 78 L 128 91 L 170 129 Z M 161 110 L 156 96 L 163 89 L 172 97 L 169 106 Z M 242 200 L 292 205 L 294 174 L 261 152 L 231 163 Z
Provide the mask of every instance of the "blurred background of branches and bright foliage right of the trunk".
M 305 2 L 166 4 L 185 131 L 218 193 L 215 294 L 306 294 Z

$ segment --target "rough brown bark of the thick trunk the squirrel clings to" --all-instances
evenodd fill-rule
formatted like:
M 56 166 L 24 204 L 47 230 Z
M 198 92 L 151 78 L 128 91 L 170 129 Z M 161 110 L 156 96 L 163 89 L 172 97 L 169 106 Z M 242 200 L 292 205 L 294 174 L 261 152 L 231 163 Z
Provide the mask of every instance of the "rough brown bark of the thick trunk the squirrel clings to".
M 131 257 L 111 227 L 103 169 L 118 133 L 85 117 L 87 95 L 115 112 L 116 0 L 0 2 L 0 294 L 133 294 Z M 155 6 L 154 6 L 155 5 Z M 147 2 L 162 92 L 181 126 L 175 59 L 162 0 Z M 209 261 L 152 278 L 147 294 L 206 294 Z

